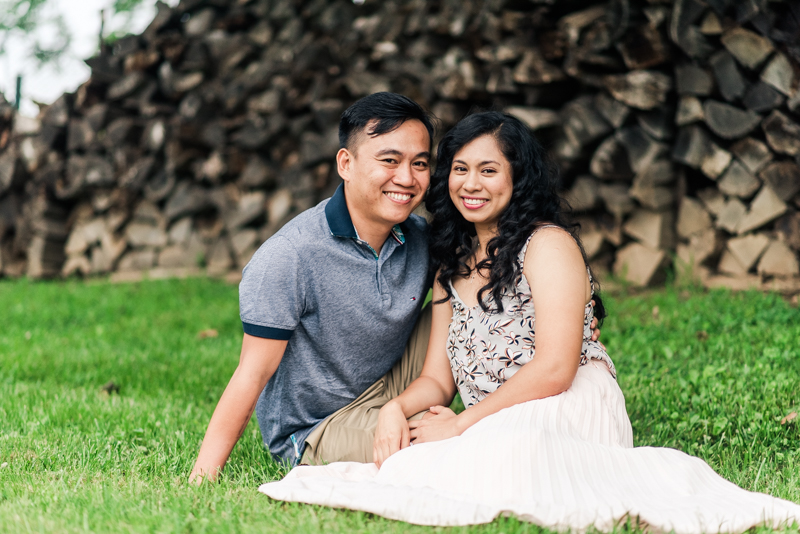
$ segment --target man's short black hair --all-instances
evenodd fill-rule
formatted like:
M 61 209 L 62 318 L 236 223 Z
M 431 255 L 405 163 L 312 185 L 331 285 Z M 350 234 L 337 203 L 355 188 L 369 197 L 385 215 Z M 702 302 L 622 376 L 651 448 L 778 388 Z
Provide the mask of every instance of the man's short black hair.
M 433 148 L 434 117 L 422 106 L 397 93 L 373 93 L 344 110 L 339 120 L 339 147 L 355 151 L 358 136 L 375 137 L 399 128 L 407 120 L 418 120 L 428 130 L 429 148 Z M 365 128 L 369 126 L 369 131 Z

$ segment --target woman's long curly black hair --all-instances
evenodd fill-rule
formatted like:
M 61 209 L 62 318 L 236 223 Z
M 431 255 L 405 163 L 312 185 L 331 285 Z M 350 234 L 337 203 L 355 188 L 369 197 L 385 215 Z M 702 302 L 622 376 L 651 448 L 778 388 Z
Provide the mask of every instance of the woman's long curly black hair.
M 439 302 L 453 297 L 450 281 L 455 276 L 467 277 L 472 269 L 467 261 L 475 254 L 475 226 L 467 222 L 450 199 L 448 181 L 453 158 L 471 141 L 490 135 L 511 165 L 514 189 L 508 207 L 500 214 L 497 235 L 486 244 L 486 258 L 475 269 L 489 270 L 489 283 L 478 291 L 478 302 L 485 312 L 490 308 L 484 300 L 489 292 L 496 311 L 502 313 L 501 296 L 513 287 L 520 276 L 517 262 L 522 247 L 533 231 L 542 224 L 555 224 L 575 237 L 584 261 L 586 253 L 575 235 L 578 225 L 569 222 L 569 206 L 558 195 L 558 174 L 545 151 L 530 130 L 518 119 L 486 111 L 462 119 L 439 142 L 436 168 L 425 207 L 433 216 L 430 233 L 432 269 L 446 292 Z M 588 262 L 587 262 L 588 265 Z M 599 295 L 594 296 L 595 317 L 602 321 L 605 308 Z

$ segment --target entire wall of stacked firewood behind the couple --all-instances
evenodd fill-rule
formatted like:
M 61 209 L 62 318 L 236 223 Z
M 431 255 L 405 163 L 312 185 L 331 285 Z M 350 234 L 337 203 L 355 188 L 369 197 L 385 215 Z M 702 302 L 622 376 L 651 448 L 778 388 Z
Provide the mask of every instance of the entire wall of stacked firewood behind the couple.
M 550 148 L 595 266 L 800 291 L 800 4 L 183 0 L 36 120 L 0 103 L 0 272 L 236 273 L 339 182 L 375 91 Z M 235 276 L 235 274 L 234 274 Z

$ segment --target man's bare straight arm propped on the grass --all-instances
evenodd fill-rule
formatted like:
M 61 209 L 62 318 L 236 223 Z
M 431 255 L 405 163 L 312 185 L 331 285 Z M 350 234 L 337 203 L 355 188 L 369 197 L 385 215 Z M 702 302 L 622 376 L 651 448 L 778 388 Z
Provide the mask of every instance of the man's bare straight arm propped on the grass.
M 261 391 L 281 363 L 288 341 L 244 334 L 239 365 L 217 403 L 189 481 L 216 480 L 239 441 Z

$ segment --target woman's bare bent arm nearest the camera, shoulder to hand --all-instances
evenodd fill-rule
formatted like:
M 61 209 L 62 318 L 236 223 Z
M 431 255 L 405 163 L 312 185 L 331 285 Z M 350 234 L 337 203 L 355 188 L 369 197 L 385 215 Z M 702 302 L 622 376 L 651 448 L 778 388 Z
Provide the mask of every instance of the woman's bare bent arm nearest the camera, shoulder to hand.
M 542 229 L 531 239 L 523 272 L 536 312 L 536 356 L 457 417 L 412 421 L 415 443 L 460 435 L 503 408 L 558 395 L 572 385 L 583 344 L 584 308 L 591 296 L 580 249 L 565 231 Z

